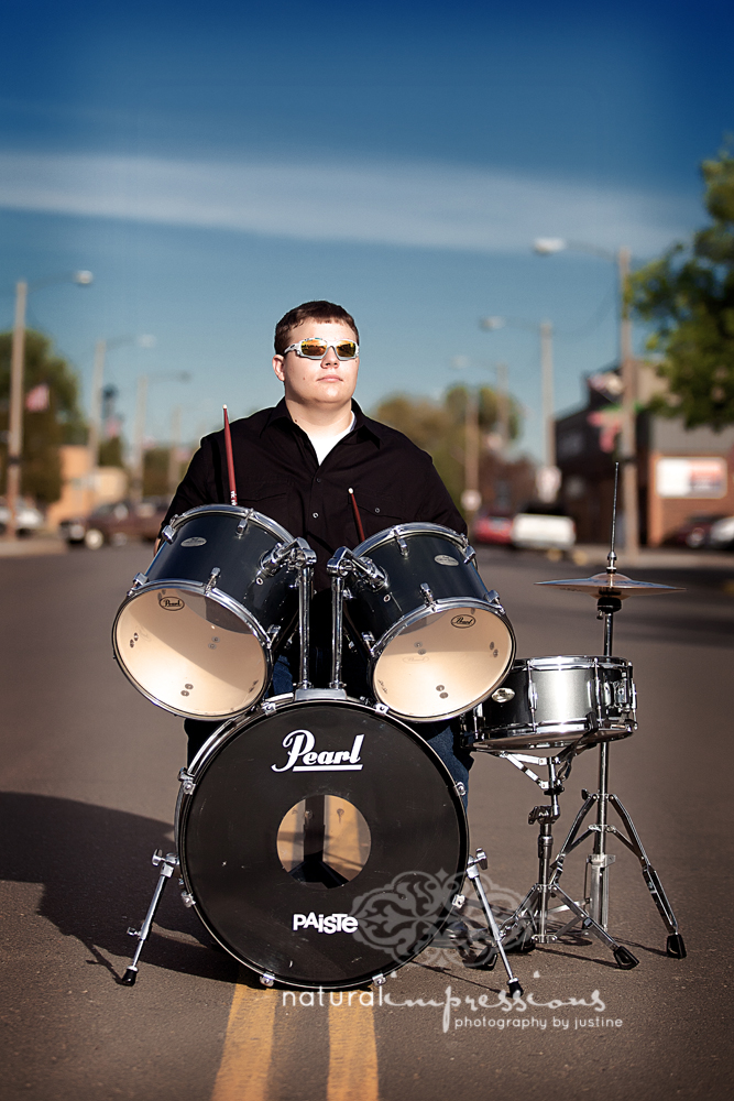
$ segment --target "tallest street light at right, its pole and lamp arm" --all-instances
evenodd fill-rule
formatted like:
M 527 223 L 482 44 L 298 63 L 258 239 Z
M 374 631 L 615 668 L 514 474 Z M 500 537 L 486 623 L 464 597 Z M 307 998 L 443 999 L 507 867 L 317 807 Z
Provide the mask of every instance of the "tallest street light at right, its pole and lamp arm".
M 637 397 L 637 364 L 632 355 L 632 320 L 627 306 L 631 252 L 622 246 L 612 252 L 584 241 L 567 241 L 562 237 L 538 237 L 533 250 L 549 257 L 571 249 L 599 257 L 616 265 L 620 284 L 620 362 L 622 368 L 622 511 L 624 514 L 624 548 L 631 557 L 639 550 L 639 519 L 637 514 L 637 440 L 635 434 L 635 400 Z

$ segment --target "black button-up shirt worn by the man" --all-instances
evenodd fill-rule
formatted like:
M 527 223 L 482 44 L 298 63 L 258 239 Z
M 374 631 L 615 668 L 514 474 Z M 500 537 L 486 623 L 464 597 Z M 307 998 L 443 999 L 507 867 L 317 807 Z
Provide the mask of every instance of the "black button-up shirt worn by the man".
M 364 416 L 357 402 L 352 408 L 352 432 L 320 466 L 285 400 L 231 425 L 238 503 L 308 542 L 317 556 L 317 591 L 330 586 L 326 564 L 333 552 L 360 542 L 350 488 L 368 538 L 394 524 L 418 522 L 467 531 L 430 456 L 403 433 Z M 223 430 L 201 440 L 164 523 L 188 509 L 218 503 L 229 503 Z

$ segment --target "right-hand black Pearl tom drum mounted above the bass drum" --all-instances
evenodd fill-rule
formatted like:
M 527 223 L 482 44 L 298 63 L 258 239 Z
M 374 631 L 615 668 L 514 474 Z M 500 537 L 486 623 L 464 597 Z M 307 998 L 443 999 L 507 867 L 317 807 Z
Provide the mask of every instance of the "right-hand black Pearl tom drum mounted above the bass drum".
M 515 636 L 467 539 L 437 524 L 402 524 L 361 543 L 384 585 L 354 573 L 346 615 L 365 645 L 376 699 L 412 721 L 451 719 L 502 682 Z

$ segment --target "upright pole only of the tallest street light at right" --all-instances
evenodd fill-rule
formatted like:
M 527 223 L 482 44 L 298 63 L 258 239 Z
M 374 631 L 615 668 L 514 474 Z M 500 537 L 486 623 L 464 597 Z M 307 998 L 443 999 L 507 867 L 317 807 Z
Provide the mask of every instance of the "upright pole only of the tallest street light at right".
M 622 504 L 624 510 L 624 549 L 635 557 L 639 552 L 639 522 L 637 500 L 637 364 L 632 355 L 632 320 L 627 304 L 629 279 L 629 249 L 617 253 L 620 271 L 620 359 L 622 368 Z

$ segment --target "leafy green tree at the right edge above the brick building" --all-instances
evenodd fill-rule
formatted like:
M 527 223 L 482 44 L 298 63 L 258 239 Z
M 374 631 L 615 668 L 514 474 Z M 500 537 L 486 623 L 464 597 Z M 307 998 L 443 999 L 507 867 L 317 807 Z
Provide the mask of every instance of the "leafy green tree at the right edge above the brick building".
M 629 302 L 662 356 L 655 411 L 720 430 L 734 424 L 734 157 L 723 150 L 701 173 L 711 225 L 636 272 Z

